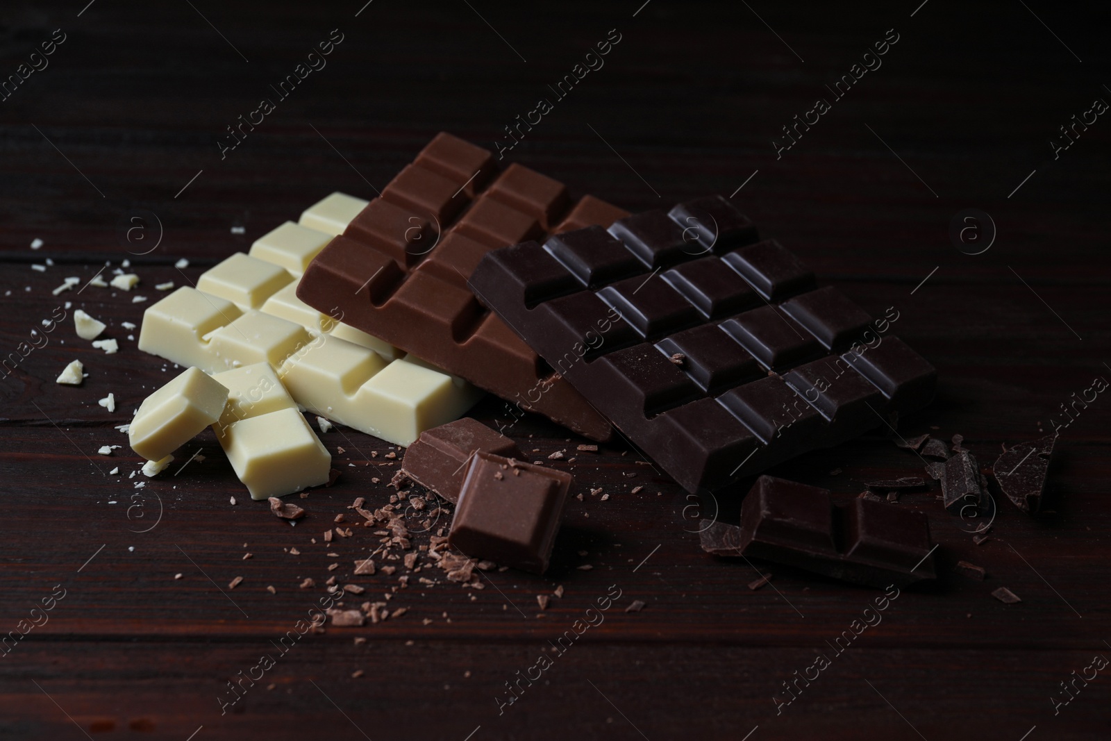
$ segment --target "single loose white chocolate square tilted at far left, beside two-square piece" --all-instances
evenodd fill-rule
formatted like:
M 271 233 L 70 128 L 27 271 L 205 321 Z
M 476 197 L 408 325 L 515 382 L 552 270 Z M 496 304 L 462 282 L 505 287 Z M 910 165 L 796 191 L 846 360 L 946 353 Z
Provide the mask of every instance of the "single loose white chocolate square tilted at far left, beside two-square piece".
M 131 449 L 160 460 L 223 414 L 228 389 L 198 368 L 189 368 L 147 397 L 131 420 Z

